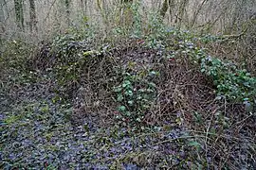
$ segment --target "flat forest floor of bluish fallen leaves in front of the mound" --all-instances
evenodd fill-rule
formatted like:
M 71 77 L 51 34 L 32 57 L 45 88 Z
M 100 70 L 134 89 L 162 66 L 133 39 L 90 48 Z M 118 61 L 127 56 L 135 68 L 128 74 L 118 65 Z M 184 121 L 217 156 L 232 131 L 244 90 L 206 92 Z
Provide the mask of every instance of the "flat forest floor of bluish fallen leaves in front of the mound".
M 71 105 L 55 101 L 51 79 L 12 84 L 1 92 L 1 167 L 4 169 L 155 169 L 168 163 L 191 166 L 185 127 L 168 124 L 133 134 L 100 127 L 97 116 L 72 121 Z M 162 131 L 163 130 L 163 131 Z M 184 144 L 184 145 L 183 145 Z M 186 148 L 188 147 L 188 148 Z M 196 148 L 191 148 L 192 150 Z

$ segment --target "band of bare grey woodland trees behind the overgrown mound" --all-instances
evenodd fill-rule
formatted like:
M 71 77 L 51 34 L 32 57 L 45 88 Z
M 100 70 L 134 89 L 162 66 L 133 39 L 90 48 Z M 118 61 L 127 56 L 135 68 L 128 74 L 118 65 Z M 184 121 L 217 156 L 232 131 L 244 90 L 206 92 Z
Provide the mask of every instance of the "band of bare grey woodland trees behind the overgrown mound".
M 252 15 L 249 13 L 256 12 L 255 0 L 0 0 L 0 20 L 5 23 L 0 27 L 8 30 L 15 24 L 20 30 L 26 27 L 37 31 L 40 25 L 43 26 L 40 30 L 46 33 L 50 26 L 70 26 L 78 16 L 73 14 L 79 10 L 106 29 L 118 25 L 133 26 L 137 2 L 143 2 L 139 12 L 144 16 L 152 11 L 151 8 L 158 9 L 163 21 L 172 26 L 225 34 L 244 30 L 249 15 Z

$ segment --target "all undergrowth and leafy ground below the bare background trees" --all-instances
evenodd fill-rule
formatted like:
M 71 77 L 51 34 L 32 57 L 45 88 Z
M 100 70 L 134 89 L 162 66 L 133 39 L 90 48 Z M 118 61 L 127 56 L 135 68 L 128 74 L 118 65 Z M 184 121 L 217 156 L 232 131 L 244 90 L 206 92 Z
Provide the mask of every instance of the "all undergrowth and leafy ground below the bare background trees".
M 38 44 L 1 38 L 1 169 L 255 169 L 255 65 L 223 52 L 255 56 L 255 32 L 125 8 L 107 34 L 85 17 Z

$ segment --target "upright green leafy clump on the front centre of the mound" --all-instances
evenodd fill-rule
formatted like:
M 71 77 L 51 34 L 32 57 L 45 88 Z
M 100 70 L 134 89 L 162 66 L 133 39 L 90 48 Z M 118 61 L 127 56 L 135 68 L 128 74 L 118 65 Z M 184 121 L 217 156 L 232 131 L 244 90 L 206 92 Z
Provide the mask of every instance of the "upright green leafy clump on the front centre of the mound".
M 156 75 L 158 74 L 154 71 L 140 74 L 122 73 L 121 82 L 114 87 L 114 92 L 119 102 L 119 114 L 116 118 L 124 126 L 142 125 L 156 97 L 156 87 L 153 82 Z

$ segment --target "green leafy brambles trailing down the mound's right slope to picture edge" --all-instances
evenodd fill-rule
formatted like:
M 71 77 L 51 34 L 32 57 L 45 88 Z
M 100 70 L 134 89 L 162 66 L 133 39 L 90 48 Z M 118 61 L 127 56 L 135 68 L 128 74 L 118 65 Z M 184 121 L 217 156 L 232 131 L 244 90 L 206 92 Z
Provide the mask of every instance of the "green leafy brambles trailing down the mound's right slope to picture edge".
M 234 63 L 210 57 L 205 49 L 196 47 L 192 41 L 180 41 L 178 46 L 177 54 L 183 54 L 198 63 L 201 72 L 212 79 L 216 88 L 216 99 L 254 103 L 256 77 L 251 76 L 247 70 L 239 69 Z

